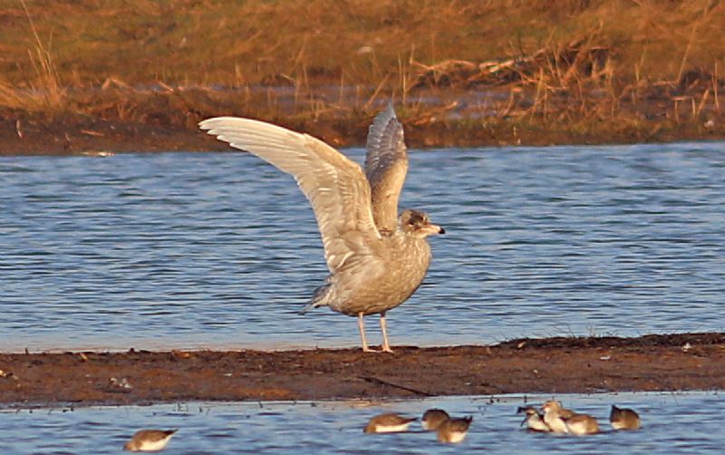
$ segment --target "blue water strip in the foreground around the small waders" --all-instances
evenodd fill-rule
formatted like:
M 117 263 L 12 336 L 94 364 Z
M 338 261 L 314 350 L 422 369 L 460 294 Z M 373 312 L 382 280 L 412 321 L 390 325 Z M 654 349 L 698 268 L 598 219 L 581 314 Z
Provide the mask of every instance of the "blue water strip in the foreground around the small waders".
M 541 404 L 551 397 L 529 396 Z M 565 406 L 594 415 L 602 434 L 577 437 L 531 433 L 515 412 L 519 396 L 449 397 L 401 402 L 189 402 L 75 411 L 0 412 L 5 453 L 121 453 L 141 428 L 174 429 L 169 453 L 721 453 L 725 401 L 717 393 L 560 395 Z M 640 431 L 611 431 L 611 404 L 640 413 Z M 431 407 L 472 415 L 460 445 L 441 445 L 432 433 L 363 434 L 380 412 L 418 416 Z M 8 451 L 9 450 L 9 451 Z

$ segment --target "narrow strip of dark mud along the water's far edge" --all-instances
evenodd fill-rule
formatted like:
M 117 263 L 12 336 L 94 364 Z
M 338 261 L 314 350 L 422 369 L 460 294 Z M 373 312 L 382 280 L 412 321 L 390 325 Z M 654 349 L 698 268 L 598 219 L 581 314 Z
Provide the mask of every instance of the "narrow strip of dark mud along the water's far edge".
M 7 123 L 7 122 L 5 122 Z M 352 121 L 351 121 L 352 123 Z M 364 147 L 363 138 L 348 130 L 355 124 L 324 131 L 319 124 L 293 127 L 295 131 L 308 132 L 335 148 Z M 207 152 L 242 150 L 228 147 L 201 131 L 189 131 L 177 127 L 149 128 L 140 124 L 99 122 L 86 128 L 82 124 L 72 126 L 49 124 L 35 131 L 25 131 L 19 137 L 12 128 L 5 125 L 0 131 L 0 157 L 11 156 L 112 156 L 117 153 L 153 152 Z M 652 126 L 656 133 L 647 136 L 646 131 L 597 131 L 592 135 L 570 134 L 571 131 L 542 131 L 517 129 L 515 126 L 498 125 L 498 131 L 484 131 L 471 125 L 450 128 L 440 124 L 424 130 L 406 131 L 409 149 L 435 149 L 459 147 L 526 147 L 526 146 L 595 146 L 606 144 L 672 143 L 681 141 L 725 140 L 725 131 L 701 131 L 697 125 L 681 125 L 677 129 L 663 129 Z M 513 128 L 513 129 L 512 129 Z M 329 130 L 329 129 L 328 129 Z

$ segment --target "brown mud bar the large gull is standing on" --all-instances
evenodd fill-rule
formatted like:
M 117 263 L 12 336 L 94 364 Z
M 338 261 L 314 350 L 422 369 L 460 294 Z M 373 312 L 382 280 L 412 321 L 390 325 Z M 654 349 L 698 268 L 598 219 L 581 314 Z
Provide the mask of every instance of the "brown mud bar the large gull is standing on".
M 725 334 L 490 346 L 0 353 L 0 408 L 725 389 Z

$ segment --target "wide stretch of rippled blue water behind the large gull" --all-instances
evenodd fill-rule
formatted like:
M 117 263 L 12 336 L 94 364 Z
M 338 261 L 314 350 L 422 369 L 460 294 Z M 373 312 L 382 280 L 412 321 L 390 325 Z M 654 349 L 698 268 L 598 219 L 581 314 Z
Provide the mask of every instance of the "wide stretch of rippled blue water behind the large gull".
M 723 142 L 413 152 L 401 206 L 448 234 L 392 344 L 724 330 L 724 176 Z M 296 315 L 324 276 L 301 192 L 247 154 L 0 158 L 0 351 L 359 345 Z

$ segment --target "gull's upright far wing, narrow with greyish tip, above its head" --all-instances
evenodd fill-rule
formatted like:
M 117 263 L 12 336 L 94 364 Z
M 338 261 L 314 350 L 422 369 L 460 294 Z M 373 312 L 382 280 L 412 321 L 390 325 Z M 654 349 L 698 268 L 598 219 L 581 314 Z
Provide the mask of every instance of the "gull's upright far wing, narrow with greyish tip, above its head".
M 368 131 L 365 175 L 372 190 L 372 217 L 380 230 L 394 231 L 398 223 L 398 198 L 408 172 L 408 153 L 401 122 L 388 104 Z

